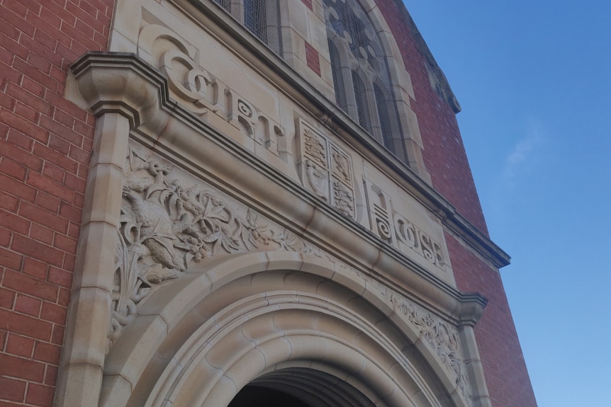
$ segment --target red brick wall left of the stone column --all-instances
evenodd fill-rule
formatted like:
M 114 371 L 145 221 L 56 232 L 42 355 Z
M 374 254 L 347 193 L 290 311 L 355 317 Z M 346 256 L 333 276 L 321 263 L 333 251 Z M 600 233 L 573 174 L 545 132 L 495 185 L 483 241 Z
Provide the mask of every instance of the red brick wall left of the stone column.
M 113 0 L 0 0 L 0 406 L 51 406 L 94 117 L 69 64 L 107 47 Z

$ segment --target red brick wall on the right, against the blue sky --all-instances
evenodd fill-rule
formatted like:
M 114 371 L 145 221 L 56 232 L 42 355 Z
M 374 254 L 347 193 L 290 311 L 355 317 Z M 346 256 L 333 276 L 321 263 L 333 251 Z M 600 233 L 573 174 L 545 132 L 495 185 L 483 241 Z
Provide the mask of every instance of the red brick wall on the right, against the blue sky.
M 376 2 L 396 37 L 410 72 L 415 93 L 411 105 L 418 117 L 425 147 L 422 156 L 433 186 L 460 214 L 487 234 L 456 116 L 433 91 L 425 59 L 395 1 Z M 537 406 L 500 274 L 452 236 L 446 235 L 446 239 L 459 289 L 479 292 L 488 298 L 488 306 L 475 333 L 493 406 Z

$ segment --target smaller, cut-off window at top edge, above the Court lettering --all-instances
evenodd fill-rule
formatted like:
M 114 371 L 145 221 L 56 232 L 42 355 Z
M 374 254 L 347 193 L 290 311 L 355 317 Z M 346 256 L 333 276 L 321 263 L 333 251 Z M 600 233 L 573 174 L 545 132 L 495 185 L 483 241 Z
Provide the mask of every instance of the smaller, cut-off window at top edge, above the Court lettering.
M 282 53 L 279 0 L 214 0 L 276 54 Z

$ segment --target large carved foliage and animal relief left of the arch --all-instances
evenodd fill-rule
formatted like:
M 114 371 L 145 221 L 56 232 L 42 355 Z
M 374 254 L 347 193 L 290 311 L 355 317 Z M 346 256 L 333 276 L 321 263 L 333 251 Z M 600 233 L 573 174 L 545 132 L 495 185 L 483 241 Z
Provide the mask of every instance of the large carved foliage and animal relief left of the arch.
M 116 253 L 111 340 L 166 280 L 228 253 L 286 250 L 330 256 L 172 165 L 130 144 Z M 185 178 L 188 183 L 185 183 Z

